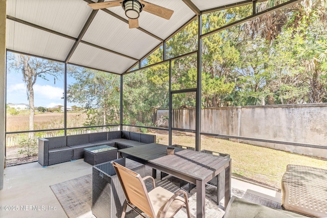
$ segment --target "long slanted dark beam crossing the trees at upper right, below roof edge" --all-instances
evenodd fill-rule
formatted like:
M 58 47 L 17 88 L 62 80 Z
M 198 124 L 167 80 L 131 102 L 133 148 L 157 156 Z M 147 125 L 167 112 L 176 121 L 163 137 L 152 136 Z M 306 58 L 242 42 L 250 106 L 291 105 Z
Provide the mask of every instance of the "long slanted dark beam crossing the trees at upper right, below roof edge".
M 277 5 L 277 6 L 275 6 L 275 7 L 269 8 L 269 9 L 267 9 L 267 10 L 264 10 L 264 11 L 258 12 L 258 13 L 256 13 L 256 14 L 253 14 L 253 15 L 251 15 L 251 16 L 245 17 L 245 18 L 240 19 L 240 20 L 238 20 L 238 21 L 235 21 L 235 22 L 232 22 L 232 23 L 228 23 L 226 26 L 223 26 L 223 27 L 218 28 L 218 29 L 216 29 L 216 30 L 213 30 L 213 31 L 211 31 L 211 32 L 204 33 L 204 34 L 201 35 L 201 38 L 206 37 L 206 36 L 209 36 L 209 35 L 212 35 L 212 34 L 215 34 L 215 33 L 218 33 L 218 32 L 221 32 L 221 31 L 226 30 L 226 29 L 229 29 L 229 28 L 231 28 L 231 27 L 237 26 L 237 25 L 239 25 L 239 24 L 242 23 L 242 22 L 246 22 L 246 21 L 252 20 L 252 19 L 254 19 L 254 18 L 256 18 L 256 17 L 263 16 L 263 15 L 265 15 L 265 14 L 271 13 L 271 12 L 273 12 L 273 11 L 276 11 L 276 10 L 278 10 L 278 9 L 284 8 L 284 7 L 286 7 L 286 6 L 294 5 L 294 4 L 299 3 L 299 2 L 301 2 L 301 1 L 302 1 L 302 0 L 290 0 L 290 1 L 288 1 L 288 2 L 285 2 L 285 3 L 281 4 L 281 5 Z

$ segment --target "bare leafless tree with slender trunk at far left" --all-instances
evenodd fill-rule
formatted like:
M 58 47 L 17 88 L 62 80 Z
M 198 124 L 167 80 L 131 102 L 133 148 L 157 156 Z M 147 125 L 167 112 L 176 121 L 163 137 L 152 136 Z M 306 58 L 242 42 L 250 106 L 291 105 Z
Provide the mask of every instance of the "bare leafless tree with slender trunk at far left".
M 37 78 L 49 80 L 49 76 L 54 78 L 54 82 L 60 78 L 63 72 L 63 64 L 46 59 L 40 59 L 32 56 L 9 53 L 11 62 L 10 68 L 15 72 L 21 72 L 22 81 L 26 84 L 27 99 L 30 105 L 30 130 L 34 130 L 34 89 Z M 32 136 L 33 133 L 30 133 Z

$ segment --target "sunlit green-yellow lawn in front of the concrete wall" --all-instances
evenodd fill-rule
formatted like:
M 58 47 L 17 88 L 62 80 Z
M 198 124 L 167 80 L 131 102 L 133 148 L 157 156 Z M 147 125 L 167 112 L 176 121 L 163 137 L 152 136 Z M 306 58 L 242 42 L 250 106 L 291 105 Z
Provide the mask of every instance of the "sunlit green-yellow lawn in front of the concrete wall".
M 168 144 L 168 135 L 157 135 L 159 143 Z M 173 135 L 173 144 L 194 147 L 194 135 Z M 278 151 L 214 137 L 201 137 L 201 149 L 229 154 L 232 176 L 262 183 L 277 189 L 287 164 L 327 169 L 327 161 L 305 155 Z

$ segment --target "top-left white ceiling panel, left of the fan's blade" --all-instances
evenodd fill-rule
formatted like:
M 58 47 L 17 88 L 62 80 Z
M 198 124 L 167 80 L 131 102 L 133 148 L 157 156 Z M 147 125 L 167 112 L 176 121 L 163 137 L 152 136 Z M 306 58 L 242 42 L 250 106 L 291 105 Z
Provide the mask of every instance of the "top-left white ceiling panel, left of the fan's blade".
M 92 9 L 82 0 L 7 0 L 7 14 L 78 37 Z

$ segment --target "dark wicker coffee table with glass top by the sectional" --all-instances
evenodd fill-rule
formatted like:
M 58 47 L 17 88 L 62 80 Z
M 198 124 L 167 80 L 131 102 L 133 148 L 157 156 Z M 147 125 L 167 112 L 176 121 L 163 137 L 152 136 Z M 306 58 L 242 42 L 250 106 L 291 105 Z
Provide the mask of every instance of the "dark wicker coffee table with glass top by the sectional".
M 97 146 L 84 149 L 84 161 L 91 165 L 117 159 L 118 149 L 111 146 Z

